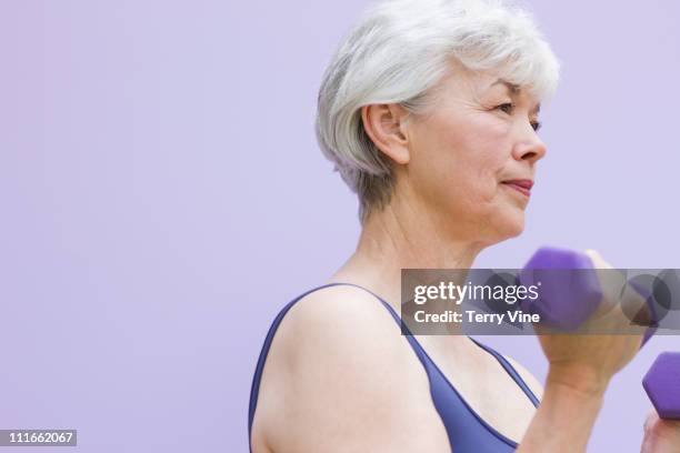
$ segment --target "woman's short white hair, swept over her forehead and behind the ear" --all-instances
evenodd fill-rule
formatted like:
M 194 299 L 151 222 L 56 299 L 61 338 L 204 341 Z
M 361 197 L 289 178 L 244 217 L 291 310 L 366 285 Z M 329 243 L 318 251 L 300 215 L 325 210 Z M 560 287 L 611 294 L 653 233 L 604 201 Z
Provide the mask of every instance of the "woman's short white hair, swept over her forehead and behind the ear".
M 359 197 L 361 222 L 393 188 L 387 158 L 363 129 L 361 108 L 399 103 L 424 113 L 451 61 L 497 71 L 538 99 L 552 97 L 560 63 L 532 16 L 504 0 L 386 0 L 373 3 L 329 62 L 316 133 L 323 154 Z

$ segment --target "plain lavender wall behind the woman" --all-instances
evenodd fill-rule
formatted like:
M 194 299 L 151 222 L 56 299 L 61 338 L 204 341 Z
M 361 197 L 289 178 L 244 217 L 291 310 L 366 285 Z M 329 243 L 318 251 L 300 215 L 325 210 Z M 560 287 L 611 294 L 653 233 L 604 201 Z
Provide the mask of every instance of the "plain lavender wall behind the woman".
M 0 427 L 78 429 L 82 452 L 247 451 L 271 320 L 359 232 L 312 121 L 366 4 L 0 2 Z M 549 154 L 527 231 L 477 265 L 554 244 L 680 268 L 680 3 L 528 4 L 563 62 Z M 534 339 L 487 341 L 544 376 Z M 654 339 L 616 376 L 590 451 L 639 451 L 640 379 L 672 349 Z

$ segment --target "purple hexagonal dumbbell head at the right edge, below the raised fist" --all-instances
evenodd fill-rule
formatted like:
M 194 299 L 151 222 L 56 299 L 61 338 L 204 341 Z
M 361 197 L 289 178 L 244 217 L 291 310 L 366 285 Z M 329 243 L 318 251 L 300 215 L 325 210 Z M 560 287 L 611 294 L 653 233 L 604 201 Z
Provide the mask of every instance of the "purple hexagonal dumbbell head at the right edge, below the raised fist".
M 659 355 L 642 386 L 661 419 L 680 420 L 680 352 Z

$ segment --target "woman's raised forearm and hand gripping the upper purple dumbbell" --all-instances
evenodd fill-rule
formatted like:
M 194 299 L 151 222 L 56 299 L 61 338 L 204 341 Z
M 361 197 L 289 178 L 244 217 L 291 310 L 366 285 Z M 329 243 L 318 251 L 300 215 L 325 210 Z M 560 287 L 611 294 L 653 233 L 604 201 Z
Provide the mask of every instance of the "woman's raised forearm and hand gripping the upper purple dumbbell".
M 587 254 L 596 269 L 611 269 L 597 252 Z M 642 341 L 643 331 L 627 330 L 629 320 L 614 303 L 617 300 L 616 294 L 603 293 L 600 309 L 583 331 L 593 328 L 592 331 L 627 334 L 541 335 L 542 329 L 537 328 L 550 369 L 543 400 L 518 452 L 586 451 L 611 376 L 632 360 Z M 631 302 L 644 306 L 641 298 Z

